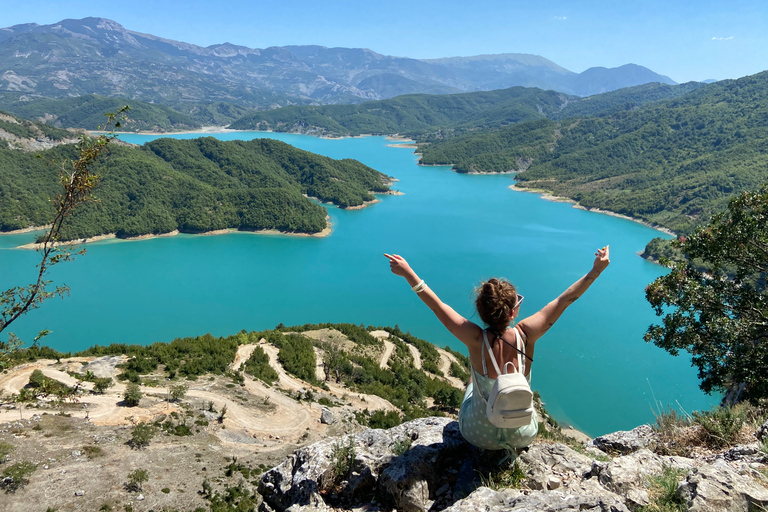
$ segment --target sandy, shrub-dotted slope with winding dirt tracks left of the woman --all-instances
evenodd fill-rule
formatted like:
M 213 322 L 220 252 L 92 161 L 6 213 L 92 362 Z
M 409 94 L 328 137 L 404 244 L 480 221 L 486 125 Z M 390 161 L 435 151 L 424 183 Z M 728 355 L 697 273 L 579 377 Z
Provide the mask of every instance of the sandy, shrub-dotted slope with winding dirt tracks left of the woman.
M 0 472 L 32 468 L 17 487 L 0 478 L 0 503 L 18 512 L 105 503 L 208 510 L 215 493 L 225 500 L 241 479 L 253 487 L 308 443 L 455 415 L 464 382 L 451 367 L 467 374 L 460 354 L 350 324 L 20 356 L 0 374 Z M 419 361 L 433 360 L 436 373 L 421 369 Z M 124 399 L 132 383 L 143 395 L 136 406 Z M 172 398 L 178 386 L 186 389 Z M 51 400 L 57 393 L 68 398 Z M 136 441 L 140 424 L 150 432 L 146 444 Z M 135 469 L 149 473 L 141 491 L 127 486 Z

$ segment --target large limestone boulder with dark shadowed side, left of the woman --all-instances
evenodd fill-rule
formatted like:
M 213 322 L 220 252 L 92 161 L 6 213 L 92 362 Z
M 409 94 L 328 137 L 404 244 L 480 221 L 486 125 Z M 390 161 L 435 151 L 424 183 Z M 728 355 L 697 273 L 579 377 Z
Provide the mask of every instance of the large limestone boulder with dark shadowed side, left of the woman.
M 410 448 L 395 455 L 395 443 L 410 440 Z M 351 444 L 352 471 L 341 484 L 332 469 L 334 446 Z M 367 503 L 375 494 L 391 500 L 400 510 L 427 510 L 437 489 L 456 480 L 457 469 L 473 458 L 469 445 L 448 418 L 421 418 L 389 430 L 366 430 L 343 440 L 328 439 L 301 448 L 262 477 L 259 492 L 276 510 L 297 510 L 295 505 L 321 510 L 326 503 Z M 476 456 L 475 456 L 476 458 Z M 444 471 L 435 471 L 440 467 Z M 471 470 L 470 470 L 471 472 Z M 336 489 L 336 486 L 339 489 Z M 444 499 L 452 499 L 446 496 Z

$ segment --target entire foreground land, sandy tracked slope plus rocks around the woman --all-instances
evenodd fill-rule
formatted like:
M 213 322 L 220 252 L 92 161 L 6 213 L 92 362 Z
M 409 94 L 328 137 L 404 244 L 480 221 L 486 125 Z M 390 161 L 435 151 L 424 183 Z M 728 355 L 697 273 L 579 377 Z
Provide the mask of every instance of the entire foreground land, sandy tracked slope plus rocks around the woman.
M 764 408 L 665 412 L 590 440 L 537 402 L 539 436 L 506 460 L 459 432 L 467 359 L 398 329 L 279 326 L 17 355 L 0 375 L 0 499 L 18 512 L 768 505 Z

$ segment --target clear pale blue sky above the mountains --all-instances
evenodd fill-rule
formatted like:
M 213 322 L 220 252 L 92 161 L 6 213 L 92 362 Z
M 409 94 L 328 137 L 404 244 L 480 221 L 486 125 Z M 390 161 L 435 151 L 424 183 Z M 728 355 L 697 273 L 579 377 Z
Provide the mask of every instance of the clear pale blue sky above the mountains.
M 0 0 L 0 27 L 87 16 L 201 46 L 531 53 L 575 72 L 634 63 L 677 82 L 768 69 L 768 0 Z

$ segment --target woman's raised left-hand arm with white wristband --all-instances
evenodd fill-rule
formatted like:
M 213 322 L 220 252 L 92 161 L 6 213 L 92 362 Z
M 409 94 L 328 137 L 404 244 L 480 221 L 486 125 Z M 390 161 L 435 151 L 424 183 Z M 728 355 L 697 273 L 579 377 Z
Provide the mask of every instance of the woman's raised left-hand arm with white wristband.
M 476 342 L 481 329 L 474 322 L 470 322 L 454 309 L 445 304 L 440 298 L 419 278 L 405 258 L 397 254 L 385 254 L 389 260 L 389 268 L 393 274 L 404 277 L 411 289 L 417 293 L 421 301 L 435 314 L 438 320 L 465 345 Z

